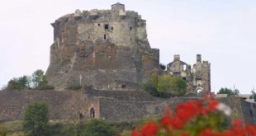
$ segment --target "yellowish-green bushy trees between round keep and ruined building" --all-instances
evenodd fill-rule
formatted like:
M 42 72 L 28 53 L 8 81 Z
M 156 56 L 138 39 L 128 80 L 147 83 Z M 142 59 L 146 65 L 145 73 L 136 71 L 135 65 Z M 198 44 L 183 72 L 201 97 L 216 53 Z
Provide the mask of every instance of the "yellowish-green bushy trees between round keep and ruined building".
M 165 97 L 166 93 L 172 93 L 174 96 L 182 96 L 186 93 L 187 84 L 181 77 L 152 74 L 149 81 L 142 84 L 142 87 L 152 96 Z

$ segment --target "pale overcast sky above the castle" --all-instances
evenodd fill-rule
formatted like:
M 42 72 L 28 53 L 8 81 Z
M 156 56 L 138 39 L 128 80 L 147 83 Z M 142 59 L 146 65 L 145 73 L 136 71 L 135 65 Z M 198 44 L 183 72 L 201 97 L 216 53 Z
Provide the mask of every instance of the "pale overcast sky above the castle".
M 256 87 L 255 0 L 1 0 L 0 87 L 12 77 L 31 75 L 49 65 L 53 28 L 76 9 L 110 9 L 121 2 L 147 21 L 160 62 L 173 54 L 189 64 L 196 54 L 211 63 L 211 91 L 220 87 L 250 93 Z

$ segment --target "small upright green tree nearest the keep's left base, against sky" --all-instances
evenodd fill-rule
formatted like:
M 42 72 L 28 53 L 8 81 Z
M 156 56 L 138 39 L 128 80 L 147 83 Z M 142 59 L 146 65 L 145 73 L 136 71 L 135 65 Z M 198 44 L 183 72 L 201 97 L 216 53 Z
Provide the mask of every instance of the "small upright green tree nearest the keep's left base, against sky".
M 47 80 L 44 74 L 44 71 L 41 69 L 36 70 L 36 72 L 34 72 L 32 74 L 32 82 L 34 84 L 34 87 L 40 88 L 40 87 L 44 87 L 47 85 Z

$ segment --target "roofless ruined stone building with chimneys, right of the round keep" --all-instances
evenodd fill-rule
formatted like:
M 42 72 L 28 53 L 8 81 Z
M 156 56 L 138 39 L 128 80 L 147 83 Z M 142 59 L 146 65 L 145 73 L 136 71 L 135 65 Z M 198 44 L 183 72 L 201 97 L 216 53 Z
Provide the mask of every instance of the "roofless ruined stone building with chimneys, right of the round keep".
M 211 92 L 211 64 L 208 61 L 201 62 L 201 54 L 197 54 L 197 63 L 193 68 L 175 54 L 173 62 L 167 65 L 167 72 L 173 76 L 182 77 L 187 82 L 187 91 Z

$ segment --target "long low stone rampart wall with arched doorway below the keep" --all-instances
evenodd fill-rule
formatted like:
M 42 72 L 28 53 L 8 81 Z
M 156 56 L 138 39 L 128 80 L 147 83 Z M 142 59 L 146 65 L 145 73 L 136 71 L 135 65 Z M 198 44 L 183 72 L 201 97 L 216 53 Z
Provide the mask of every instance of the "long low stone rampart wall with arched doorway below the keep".
M 198 97 L 149 96 L 145 91 L 2 91 L 0 120 L 21 120 L 28 104 L 45 101 L 50 108 L 50 120 L 91 119 L 136 120 L 162 115 L 165 106 L 171 110 Z M 256 122 L 256 104 L 239 97 L 218 98 L 232 109 L 230 120 Z M 93 117 L 91 110 L 94 110 Z

